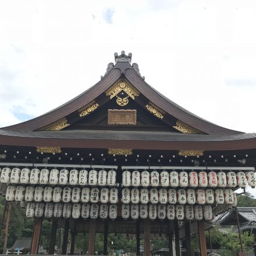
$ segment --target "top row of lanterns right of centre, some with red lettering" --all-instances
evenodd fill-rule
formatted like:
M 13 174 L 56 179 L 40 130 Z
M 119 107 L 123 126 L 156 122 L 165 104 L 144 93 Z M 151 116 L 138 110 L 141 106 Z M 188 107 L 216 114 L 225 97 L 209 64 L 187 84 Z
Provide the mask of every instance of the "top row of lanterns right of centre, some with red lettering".
M 254 187 L 256 184 L 256 176 L 254 172 L 185 172 L 180 173 L 173 170 L 168 173 L 166 170 L 158 172 L 153 170 L 148 172 L 138 172 L 134 170 L 129 172 L 123 171 L 122 184 L 125 187 L 143 186 L 143 187 L 246 187 L 246 184 Z

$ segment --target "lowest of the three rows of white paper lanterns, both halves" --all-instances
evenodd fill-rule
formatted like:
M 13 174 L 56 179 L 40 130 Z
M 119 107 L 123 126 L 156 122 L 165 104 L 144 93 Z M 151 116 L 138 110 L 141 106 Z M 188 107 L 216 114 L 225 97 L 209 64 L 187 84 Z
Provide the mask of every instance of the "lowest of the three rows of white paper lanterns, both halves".
M 123 204 L 121 207 L 123 219 L 177 219 L 182 221 L 187 219 L 189 221 L 211 221 L 213 218 L 212 207 L 210 205 L 137 205 L 137 204 Z M 92 218 L 92 219 L 116 219 L 118 216 L 118 206 L 116 204 L 61 204 L 61 203 L 42 203 L 29 202 L 26 208 L 26 216 L 28 218 L 43 217 L 44 218 Z

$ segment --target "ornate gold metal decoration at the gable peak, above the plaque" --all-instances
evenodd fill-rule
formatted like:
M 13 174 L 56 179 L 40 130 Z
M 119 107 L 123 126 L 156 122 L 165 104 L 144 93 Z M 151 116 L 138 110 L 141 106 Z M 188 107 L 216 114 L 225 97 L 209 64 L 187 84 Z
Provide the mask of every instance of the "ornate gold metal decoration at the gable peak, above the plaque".
M 125 93 L 128 95 L 127 97 L 119 97 L 118 94 L 120 93 L 120 91 L 125 91 Z M 106 91 L 106 96 L 110 96 L 110 98 L 112 99 L 113 97 L 116 97 L 116 103 L 120 106 L 125 106 L 128 104 L 129 102 L 129 97 L 131 97 L 132 99 L 135 99 L 135 96 L 138 96 L 139 93 L 136 90 L 136 88 L 134 88 L 133 86 L 131 86 L 131 84 L 127 83 L 127 81 L 118 81 L 118 83 L 115 83 L 111 88 L 109 88 Z

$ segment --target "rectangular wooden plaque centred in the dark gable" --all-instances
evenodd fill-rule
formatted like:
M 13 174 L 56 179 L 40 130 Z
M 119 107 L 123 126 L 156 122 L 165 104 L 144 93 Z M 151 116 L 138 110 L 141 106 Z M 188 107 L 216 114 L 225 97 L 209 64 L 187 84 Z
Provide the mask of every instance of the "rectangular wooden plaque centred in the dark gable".
M 136 110 L 108 109 L 108 125 L 136 125 Z

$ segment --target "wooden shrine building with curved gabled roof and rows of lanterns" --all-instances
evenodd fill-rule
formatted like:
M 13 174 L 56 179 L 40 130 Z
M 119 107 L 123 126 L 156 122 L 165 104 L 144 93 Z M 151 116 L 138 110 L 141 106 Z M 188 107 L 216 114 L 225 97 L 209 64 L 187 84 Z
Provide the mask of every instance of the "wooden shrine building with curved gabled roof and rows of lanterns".
M 157 70 L 156 70 L 157 72 Z M 160 75 L 160 74 L 159 74 Z M 169 238 L 180 256 L 186 237 L 198 233 L 207 255 L 205 229 L 236 207 L 235 190 L 254 187 L 256 133 L 208 122 L 145 82 L 131 54 L 115 54 L 101 80 L 58 108 L 0 129 L 0 190 L 9 204 L 34 219 L 30 254 L 37 254 L 43 219 L 65 228 L 62 254 L 72 233 L 134 234 L 137 255 L 144 239 Z M 172 241 L 175 241 L 173 246 Z

